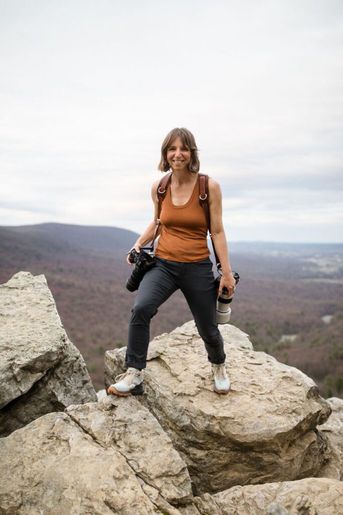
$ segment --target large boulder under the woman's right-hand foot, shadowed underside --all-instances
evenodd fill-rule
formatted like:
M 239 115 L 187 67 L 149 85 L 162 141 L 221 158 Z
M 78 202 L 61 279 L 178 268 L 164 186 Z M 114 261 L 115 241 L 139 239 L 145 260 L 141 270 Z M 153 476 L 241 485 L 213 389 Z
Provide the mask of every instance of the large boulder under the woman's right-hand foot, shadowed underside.
M 314 476 L 329 461 L 316 429 L 331 409 L 294 367 L 252 350 L 247 335 L 220 327 L 231 390 L 213 391 L 204 343 L 193 321 L 150 342 L 146 393 L 137 397 L 186 461 L 193 493 Z M 126 348 L 105 355 L 105 384 L 124 370 Z

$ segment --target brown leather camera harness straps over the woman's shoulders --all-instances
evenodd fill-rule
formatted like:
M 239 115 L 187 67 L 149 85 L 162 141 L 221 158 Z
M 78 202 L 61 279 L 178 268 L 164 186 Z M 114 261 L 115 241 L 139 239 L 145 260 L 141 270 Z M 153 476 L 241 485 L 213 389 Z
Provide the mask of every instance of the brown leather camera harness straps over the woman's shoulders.
M 171 176 L 172 176 L 172 171 L 169 171 L 168 174 L 166 174 L 159 181 L 159 184 L 158 184 L 158 187 L 157 187 L 158 212 L 157 212 L 157 218 L 156 218 L 154 237 L 152 239 L 151 246 L 150 246 L 151 252 L 154 251 L 154 241 L 155 241 L 155 238 L 156 238 L 156 235 L 157 235 L 157 232 L 158 232 L 158 229 L 159 229 L 159 225 L 160 225 L 159 216 L 161 214 L 162 202 L 163 202 L 163 200 L 164 200 L 164 198 L 166 196 L 167 187 L 168 187 L 168 184 L 170 182 Z M 213 239 L 212 239 L 212 234 L 211 234 L 210 210 L 209 210 L 209 205 L 208 205 L 208 199 L 209 199 L 208 175 L 207 174 L 200 174 L 200 173 L 198 173 L 198 179 L 197 180 L 198 180 L 198 182 L 200 184 L 199 203 L 200 203 L 201 207 L 203 208 L 203 210 L 205 212 L 205 217 L 206 217 L 206 221 L 207 221 L 207 229 L 209 231 L 211 242 L 212 242 L 213 253 L 214 253 L 214 258 L 215 258 L 215 264 L 216 264 L 216 267 L 217 267 L 217 269 L 219 271 L 221 269 L 221 264 L 220 264 L 218 255 L 215 252 L 215 248 L 214 248 L 214 244 L 213 244 Z

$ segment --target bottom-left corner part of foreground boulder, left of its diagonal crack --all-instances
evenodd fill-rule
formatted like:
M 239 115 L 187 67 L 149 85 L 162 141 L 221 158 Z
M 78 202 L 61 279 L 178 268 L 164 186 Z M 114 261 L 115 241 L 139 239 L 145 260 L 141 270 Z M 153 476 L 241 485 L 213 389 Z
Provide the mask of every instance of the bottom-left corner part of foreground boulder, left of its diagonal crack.
M 104 449 L 65 413 L 44 415 L 1 439 L 0 453 L 0 513 L 160 515 L 124 456 Z

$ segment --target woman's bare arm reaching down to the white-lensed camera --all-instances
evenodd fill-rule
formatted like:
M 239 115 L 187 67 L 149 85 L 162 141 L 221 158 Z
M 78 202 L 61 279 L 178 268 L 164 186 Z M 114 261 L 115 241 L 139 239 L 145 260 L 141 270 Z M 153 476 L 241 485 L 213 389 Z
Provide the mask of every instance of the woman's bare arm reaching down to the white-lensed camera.
M 236 281 L 234 280 L 231 273 L 229 252 L 223 226 L 222 191 L 219 183 L 211 178 L 208 179 L 208 189 L 212 240 L 223 272 L 223 277 L 219 287 L 219 294 L 222 293 L 223 286 L 226 286 L 229 290 L 228 295 L 232 295 Z

